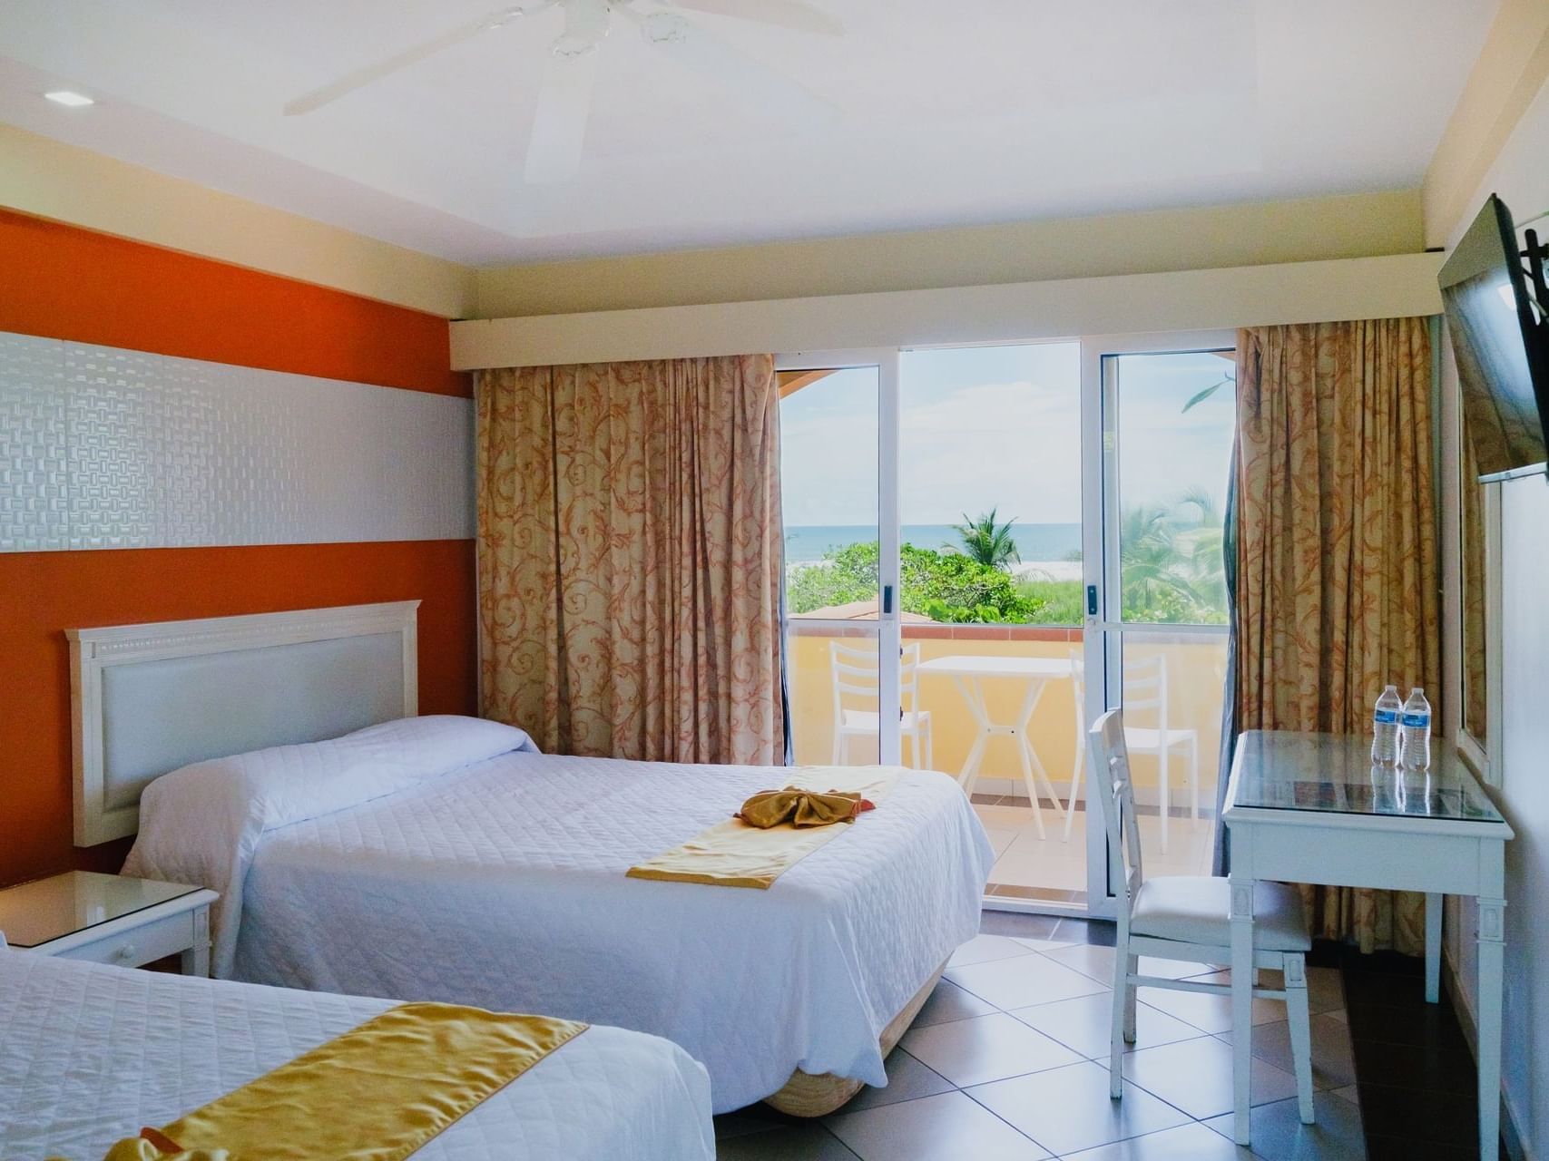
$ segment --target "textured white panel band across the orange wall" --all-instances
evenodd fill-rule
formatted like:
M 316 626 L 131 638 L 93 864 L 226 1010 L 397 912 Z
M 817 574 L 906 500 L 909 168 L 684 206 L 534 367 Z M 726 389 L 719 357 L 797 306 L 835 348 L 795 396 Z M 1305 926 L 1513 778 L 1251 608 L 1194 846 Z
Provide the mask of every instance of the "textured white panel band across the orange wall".
M 0 551 L 472 534 L 468 399 L 0 333 Z

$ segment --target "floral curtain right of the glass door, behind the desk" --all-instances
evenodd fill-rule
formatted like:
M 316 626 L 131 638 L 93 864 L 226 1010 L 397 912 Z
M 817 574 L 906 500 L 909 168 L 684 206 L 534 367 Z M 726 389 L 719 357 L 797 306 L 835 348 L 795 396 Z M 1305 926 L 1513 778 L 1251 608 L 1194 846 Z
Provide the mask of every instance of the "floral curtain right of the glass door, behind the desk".
M 1239 729 L 1369 734 L 1388 683 L 1436 707 L 1428 320 L 1244 330 L 1238 395 Z M 1315 935 L 1425 946 L 1422 895 L 1303 892 Z

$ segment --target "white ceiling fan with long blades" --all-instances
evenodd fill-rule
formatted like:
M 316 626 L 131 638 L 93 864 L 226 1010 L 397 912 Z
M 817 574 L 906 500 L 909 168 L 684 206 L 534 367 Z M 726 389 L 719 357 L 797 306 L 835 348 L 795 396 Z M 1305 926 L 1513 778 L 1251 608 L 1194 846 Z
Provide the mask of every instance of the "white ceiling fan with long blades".
M 665 56 L 759 105 L 804 118 L 824 119 L 833 115 L 833 107 L 823 98 L 672 11 L 688 8 L 819 36 L 843 36 L 844 26 L 840 22 L 804 0 L 647 0 L 644 8 L 637 3 L 638 0 L 517 0 L 304 93 L 285 105 L 285 116 L 311 113 L 454 45 L 555 6 L 564 11 L 565 29 L 550 50 L 538 93 L 524 170 L 531 184 L 567 181 L 581 167 L 581 146 L 592 111 L 592 85 L 596 80 L 596 50 L 615 15 L 637 25 L 646 43 Z

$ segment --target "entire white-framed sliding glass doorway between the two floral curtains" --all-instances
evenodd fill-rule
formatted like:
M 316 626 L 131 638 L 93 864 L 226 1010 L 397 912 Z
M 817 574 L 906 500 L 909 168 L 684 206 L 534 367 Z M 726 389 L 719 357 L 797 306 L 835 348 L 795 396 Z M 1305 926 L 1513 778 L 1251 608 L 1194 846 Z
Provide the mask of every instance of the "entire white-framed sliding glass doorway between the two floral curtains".
M 782 358 L 795 760 L 945 771 L 987 906 L 1111 909 L 1086 729 L 1125 706 L 1148 858 L 1208 868 L 1230 334 Z

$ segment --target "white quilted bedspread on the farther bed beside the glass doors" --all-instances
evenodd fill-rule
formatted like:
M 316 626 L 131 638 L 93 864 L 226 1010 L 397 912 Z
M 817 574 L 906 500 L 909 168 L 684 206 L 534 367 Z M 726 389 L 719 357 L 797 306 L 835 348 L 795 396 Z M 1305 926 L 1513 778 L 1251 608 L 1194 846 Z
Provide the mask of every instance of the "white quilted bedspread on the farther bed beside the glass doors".
M 993 864 L 956 782 L 900 771 L 767 892 L 624 878 L 782 776 L 507 752 L 246 851 L 209 825 L 208 786 L 158 780 L 132 868 L 240 884 L 240 978 L 654 1033 L 706 1065 L 726 1111 L 798 1067 L 884 1084 L 877 1039 L 977 932 Z

